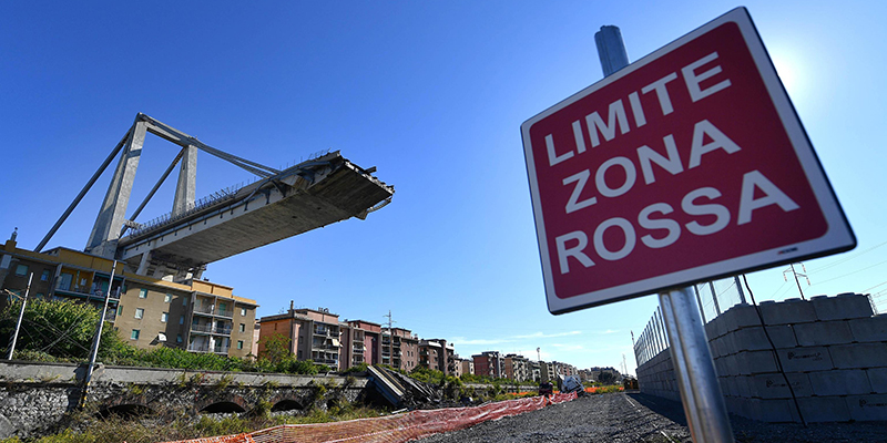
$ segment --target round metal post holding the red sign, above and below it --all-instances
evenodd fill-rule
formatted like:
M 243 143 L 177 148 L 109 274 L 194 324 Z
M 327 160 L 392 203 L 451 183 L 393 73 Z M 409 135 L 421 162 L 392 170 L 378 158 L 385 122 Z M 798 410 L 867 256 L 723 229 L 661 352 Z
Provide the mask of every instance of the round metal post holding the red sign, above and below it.
M 619 28 L 601 27 L 594 41 L 604 75 L 629 64 Z M 694 297 L 691 288 L 659 295 L 684 414 L 694 442 L 733 442 L 730 416 Z

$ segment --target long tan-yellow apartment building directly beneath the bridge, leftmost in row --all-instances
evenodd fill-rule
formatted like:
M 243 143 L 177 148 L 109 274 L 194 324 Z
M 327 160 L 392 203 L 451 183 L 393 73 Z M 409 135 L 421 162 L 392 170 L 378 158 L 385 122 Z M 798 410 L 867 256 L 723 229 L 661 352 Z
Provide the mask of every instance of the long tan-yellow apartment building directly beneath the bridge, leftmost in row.
M 96 309 L 110 289 L 113 297 L 105 321 L 136 348 L 164 346 L 231 357 L 251 353 L 255 300 L 236 297 L 233 288 L 210 281 L 173 282 L 124 268 L 68 248 L 20 249 L 13 236 L 0 249 L 0 288 L 23 296 L 30 278 L 29 298 L 79 300 Z M 0 298 L 0 305 L 6 303 L 7 298 Z

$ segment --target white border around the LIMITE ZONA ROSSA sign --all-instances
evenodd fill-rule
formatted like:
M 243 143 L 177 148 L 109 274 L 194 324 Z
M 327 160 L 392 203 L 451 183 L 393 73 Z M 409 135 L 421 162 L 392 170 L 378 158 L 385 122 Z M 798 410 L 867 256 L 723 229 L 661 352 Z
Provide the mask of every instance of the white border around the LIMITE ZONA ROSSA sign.
M 539 184 L 537 182 L 536 165 L 533 163 L 533 152 L 530 140 L 530 127 L 542 119 L 571 105 L 572 103 L 585 97 L 587 95 L 608 86 L 616 80 L 634 72 L 646 64 L 660 59 L 671 51 L 694 40 L 697 37 L 724 24 L 734 22 L 738 25 L 743 39 L 748 47 L 752 58 L 757 65 L 758 72 L 764 81 L 771 100 L 776 109 L 788 138 L 795 150 L 795 154 L 801 162 L 804 173 L 810 183 L 810 187 L 816 196 L 823 215 L 828 224 L 828 230 L 822 237 L 802 241 L 798 244 L 786 245 L 779 248 L 768 249 L 759 253 L 731 258 L 713 264 L 683 269 L 680 271 L 646 278 L 625 285 L 605 288 L 598 291 L 585 292 L 579 296 L 561 299 L 554 290 L 553 274 L 551 268 L 550 251 L 548 250 L 547 231 L 544 217 L 542 215 L 541 198 L 539 196 Z M 801 119 L 792 105 L 785 87 L 779 81 L 776 69 L 767 54 L 764 43 L 755 29 L 748 10 L 736 8 L 718 17 L 715 20 L 697 28 L 696 30 L 681 37 L 680 39 L 660 48 L 651 54 L 638 60 L 626 68 L 604 78 L 602 81 L 571 95 L 554 106 L 541 112 L 521 125 L 523 137 L 523 150 L 527 162 L 527 174 L 530 182 L 530 193 L 532 197 L 533 216 L 536 218 L 537 239 L 539 241 L 539 254 L 542 260 L 542 272 L 546 286 L 548 308 L 551 313 L 559 315 L 592 306 L 610 303 L 634 297 L 653 293 L 671 287 L 686 286 L 696 281 L 715 279 L 738 272 L 746 272 L 779 266 L 787 262 L 796 262 L 802 259 L 820 257 L 824 255 L 846 251 L 856 247 L 856 237 L 844 215 L 840 204 L 832 189 L 825 171 L 819 163 L 813 145 L 807 137 L 801 123 Z

